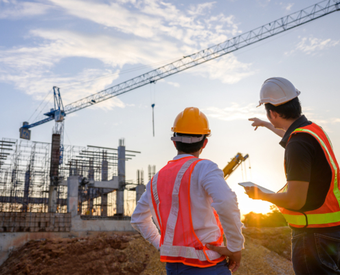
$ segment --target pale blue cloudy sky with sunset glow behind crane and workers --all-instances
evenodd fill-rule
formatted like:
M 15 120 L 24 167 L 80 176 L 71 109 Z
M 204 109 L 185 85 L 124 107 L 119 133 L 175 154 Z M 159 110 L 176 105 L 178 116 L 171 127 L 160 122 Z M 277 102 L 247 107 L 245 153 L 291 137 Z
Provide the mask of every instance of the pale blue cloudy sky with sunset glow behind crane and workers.
M 41 118 L 60 87 L 64 105 L 117 85 L 206 47 L 306 8 L 317 1 L 218 0 L 80 1 L 0 0 L 0 138 L 19 139 L 23 121 Z M 126 163 L 157 170 L 177 151 L 170 137 L 176 115 L 199 107 L 212 137 L 201 157 L 223 168 L 240 152 L 249 154 L 227 184 L 238 195 L 242 214 L 268 212 L 253 201 L 241 181 L 277 191 L 284 186 L 280 137 L 248 118 L 266 119 L 256 108 L 264 80 L 281 76 L 302 92 L 309 120 L 322 126 L 340 153 L 338 113 L 340 12 L 67 115 L 65 144 L 126 149 L 141 154 Z M 155 137 L 152 108 L 155 104 Z M 53 122 L 32 128 L 31 140 L 50 142 Z M 249 169 L 251 166 L 251 169 Z

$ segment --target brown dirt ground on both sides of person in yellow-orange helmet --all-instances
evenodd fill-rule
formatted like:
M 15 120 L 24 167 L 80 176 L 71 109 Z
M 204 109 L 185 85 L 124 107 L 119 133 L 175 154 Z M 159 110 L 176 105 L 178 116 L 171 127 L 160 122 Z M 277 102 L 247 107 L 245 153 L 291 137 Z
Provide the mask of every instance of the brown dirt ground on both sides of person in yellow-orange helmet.
M 247 228 L 236 274 L 294 274 L 289 228 Z M 277 253 L 276 253 L 277 252 Z M 281 255 L 281 256 L 280 256 Z M 30 241 L 12 252 L 0 274 L 166 274 L 159 252 L 139 234 Z

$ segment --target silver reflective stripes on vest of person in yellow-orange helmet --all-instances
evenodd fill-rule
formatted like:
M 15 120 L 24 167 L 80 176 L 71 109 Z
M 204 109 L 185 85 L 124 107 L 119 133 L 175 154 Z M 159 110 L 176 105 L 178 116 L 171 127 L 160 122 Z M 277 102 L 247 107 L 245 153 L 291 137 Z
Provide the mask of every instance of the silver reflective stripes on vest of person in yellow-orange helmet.
M 214 265 L 213 261 L 220 259 L 221 255 L 217 252 L 214 252 L 212 250 L 207 249 L 196 249 L 194 247 L 189 246 L 179 246 L 174 245 L 174 231 L 177 224 L 177 218 L 179 214 L 179 190 L 181 187 L 181 181 L 183 179 L 183 175 L 185 172 L 187 172 L 188 168 L 192 166 L 192 164 L 196 165 L 195 162 L 199 162 L 201 159 L 197 159 L 196 157 L 192 157 L 186 161 L 181 168 L 179 169 L 179 172 L 177 173 L 176 179 L 174 181 L 174 187 L 172 188 L 172 202 L 171 202 L 171 208 L 170 208 L 170 214 L 168 216 L 168 221 L 166 223 L 166 228 L 163 228 L 164 224 L 163 221 L 161 221 L 161 214 L 159 212 L 159 195 L 157 191 L 157 180 L 158 180 L 158 173 L 157 176 L 155 175 L 153 179 L 151 180 L 151 192 L 152 197 L 155 199 L 155 203 L 153 204 L 154 208 L 156 208 L 156 214 L 157 214 L 157 220 L 159 224 L 161 225 L 161 228 L 165 229 L 165 236 L 163 243 L 160 246 L 160 252 L 161 256 L 170 256 L 174 258 L 182 257 L 185 259 L 194 259 L 199 261 L 207 261 L 209 262 L 209 265 Z M 191 173 L 190 173 L 191 177 Z M 162 226 L 163 225 L 163 226 Z M 222 261 L 221 259 L 220 261 Z M 212 264 L 213 263 L 213 264 Z M 194 265 L 189 264 L 188 265 Z M 194 265 L 194 266 L 200 266 L 200 265 Z M 207 266 L 207 265 L 205 265 Z

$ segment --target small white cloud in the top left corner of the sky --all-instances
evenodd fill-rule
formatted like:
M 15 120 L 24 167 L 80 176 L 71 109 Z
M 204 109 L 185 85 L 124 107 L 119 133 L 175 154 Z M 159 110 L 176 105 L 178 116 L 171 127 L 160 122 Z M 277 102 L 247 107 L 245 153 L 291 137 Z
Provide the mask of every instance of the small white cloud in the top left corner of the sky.
M 0 19 L 22 19 L 47 13 L 51 5 L 14 0 L 0 0 Z

